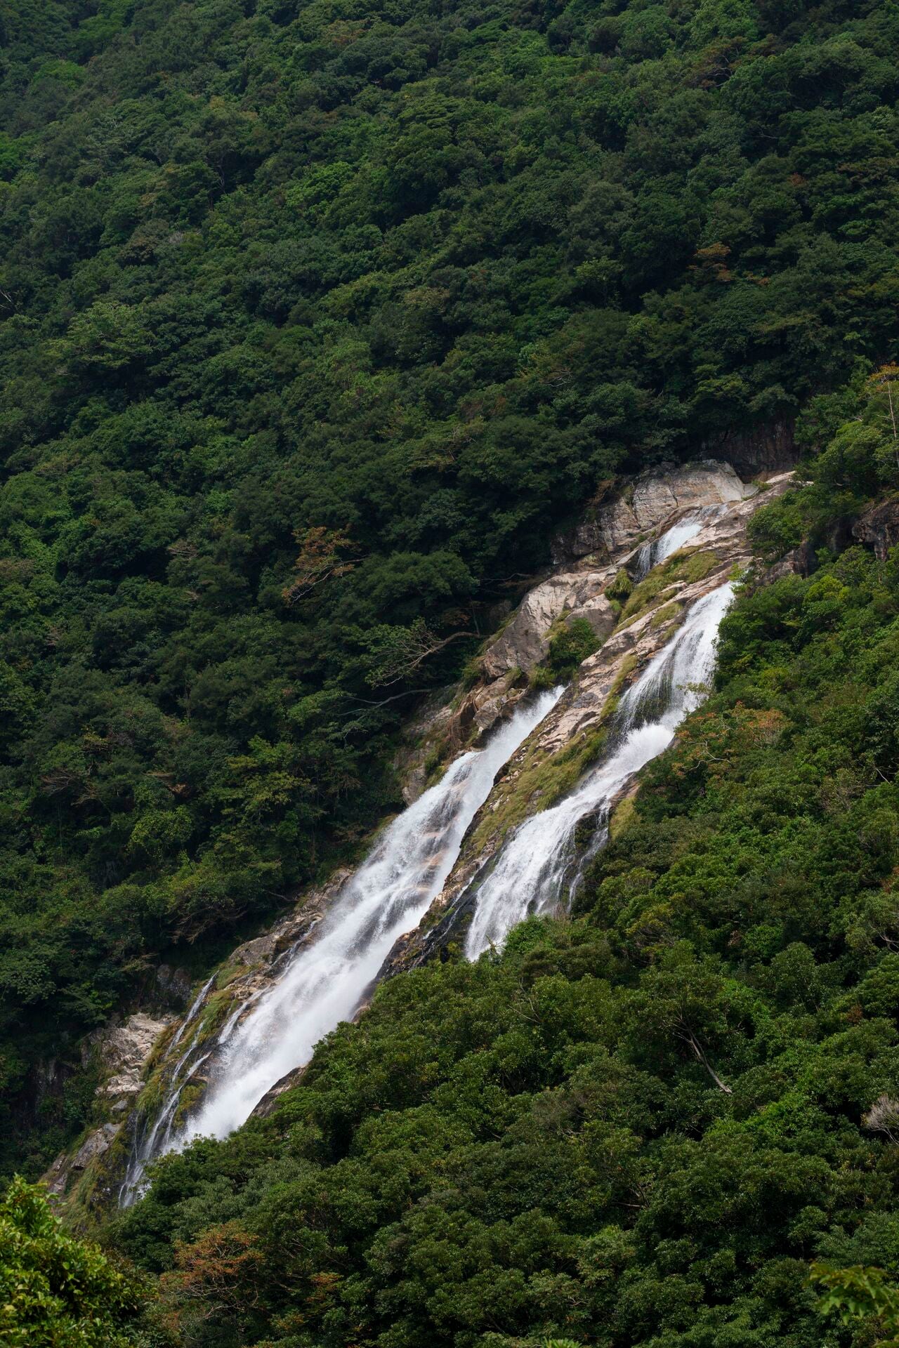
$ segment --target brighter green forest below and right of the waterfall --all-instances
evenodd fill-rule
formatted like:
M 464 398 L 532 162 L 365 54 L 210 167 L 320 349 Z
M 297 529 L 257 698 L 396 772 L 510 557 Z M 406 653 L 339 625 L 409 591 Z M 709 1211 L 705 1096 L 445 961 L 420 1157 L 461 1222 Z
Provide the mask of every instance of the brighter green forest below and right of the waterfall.
M 756 516 L 763 554 L 899 484 L 884 411 L 813 404 L 828 449 Z M 155 1332 L 880 1337 L 821 1317 L 809 1263 L 899 1277 L 899 559 L 818 563 L 740 596 L 717 693 L 620 809 L 573 921 L 383 984 L 270 1119 L 158 1166 L 111 1236 L 162 1275 Z

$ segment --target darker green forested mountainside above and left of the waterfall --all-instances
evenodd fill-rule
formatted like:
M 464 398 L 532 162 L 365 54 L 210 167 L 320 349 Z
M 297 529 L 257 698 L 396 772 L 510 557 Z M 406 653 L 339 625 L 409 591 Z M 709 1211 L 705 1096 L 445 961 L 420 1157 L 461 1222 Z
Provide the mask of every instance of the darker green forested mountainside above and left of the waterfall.
M 559 522 L 890 359 L 896 50 L 892 0 L 7 0 L 12 1159 L 82 1117 L 35 1064 L 395 807 Z

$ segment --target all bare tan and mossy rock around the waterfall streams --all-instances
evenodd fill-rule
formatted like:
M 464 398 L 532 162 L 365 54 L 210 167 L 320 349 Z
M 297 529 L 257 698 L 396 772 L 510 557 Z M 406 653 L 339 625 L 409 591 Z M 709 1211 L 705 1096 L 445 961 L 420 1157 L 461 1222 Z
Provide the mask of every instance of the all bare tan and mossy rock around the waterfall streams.
M 477 744 L 527 696 L 530 677 L 546 659 L 559 624 L 586 620 L 598 650 L 503 768 L 443 892 L 421 927 L 395 948 L 381 976 L 431 957 L 454 938 L 465 918 L 470 880 L 489 864 L 512 826 L 577 783 L 601 751 L 605 723 L 628 681 L 664 644 L 695 599 L 748 565 L 747 520 L 762 501 L 784 489 L 788 476 L 762 488 L 747 485 L 731 465 L 712 460 L 646 473 L 555 539 L 554 570 L 538 580 L 503 631 L 485 644 L 474 686 L 426 704 L 412 723 L 418 744 L 403 756 L 407 798 L 421 794 L 433 760 L 446 762 Z M 687 546 L 652 565 L 647 545 L 685 519 L 691 520 Z M 101 1091 L 108 1117 L 74 1157 L 55 1163 L 49 1175 L 54 1192 L 65 1192 L 73 1175 L 82 1177 L 80 1186 L 85 1175 L 100 1175 L 100 1189 L 109 1193 L 128 1147 L 147 1136 L 164 1103 L 171 1104 L 174 1122 L 190 1111 L 202 1095 L 210 1060 L 216 1061 L 216 1045 L 224 1042 L 222 1026 L 241 1015 L 314 940 L 346 875 L 340 872 L 306 894 L 268 934 L 235 950 L 179 1023 L 132 1016 L 97 1038 L 90 1051 L 100 1053 L 106 1065 Z M 291 1073 L 275 1085 L 259 1108 L 268 1108 L 295 1077 Z

